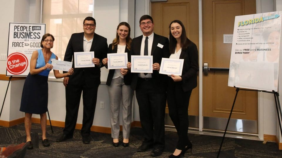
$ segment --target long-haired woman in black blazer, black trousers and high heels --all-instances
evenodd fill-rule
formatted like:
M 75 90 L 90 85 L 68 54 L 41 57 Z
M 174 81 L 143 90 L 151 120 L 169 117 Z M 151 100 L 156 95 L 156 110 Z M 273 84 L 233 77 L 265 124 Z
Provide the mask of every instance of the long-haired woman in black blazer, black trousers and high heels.
M 180 157 L 191 149 L 192 143 L 188 138 L 188 106 L 192 89 L 197 87 L 198 49 L 186 37 L 184 25 L 174 20 L 169 25 L 169 58 L 184 59 L 182 75 L 171 74 L 167 82 L 167 104 L 169 116 L 177 130 L 179 140 L 176 149 L 169 157 Z

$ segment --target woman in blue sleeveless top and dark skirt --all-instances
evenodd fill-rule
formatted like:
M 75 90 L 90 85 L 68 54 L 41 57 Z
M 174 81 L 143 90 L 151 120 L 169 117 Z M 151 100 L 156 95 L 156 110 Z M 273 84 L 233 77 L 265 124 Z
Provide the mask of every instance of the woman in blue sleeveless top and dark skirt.
M 53 35 L 49 33 L 43 35 L 41 40 L 42 49 L 32 53 L 30 73 L 24 82 L 20 111 L 25 112 L 24 126 L 28 149 L 33 149 L 30 135 L 32 114 L 40 114 L 42 143 L 44 147 L 50 145 L 48 139 L 46 139 L 46 111 L 48 105 L 48 75 L 53 68 L 51 59 L 58 60 L 58 56 L 51 52 L 54 40 Z M 63 78 L 73 74 L 73 68 L 70 68 L 67 73 L 59 73 L 58 70 L 53 71 L 56 78 Z

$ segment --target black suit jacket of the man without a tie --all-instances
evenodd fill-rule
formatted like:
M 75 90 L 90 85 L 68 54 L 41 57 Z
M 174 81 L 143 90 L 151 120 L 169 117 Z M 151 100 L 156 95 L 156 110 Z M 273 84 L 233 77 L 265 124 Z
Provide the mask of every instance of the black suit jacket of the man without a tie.
M 74 33 L 71 35 L 70 40 L 68 42 L 68 46 L 66 48 L 66 53 L 64 57 L 64 61 L 73 61 L 74 60 L 74 52 L 82 52 L 83 51 L 83 36 L 84 32 Z M 108 44 L 107 39 L 98 34 L 94 34 L 92 45 L 90 51 L 95 52 L 95 58 L 100 59 L 100 63 L 102 59 L 107 56 Z M 101 64 L 103 66 L 103 64 Z M 100 84 L 100 67 L 90 67 L 90 68 L 74 68 L 73 61 L 73 69 L 74 72 L 69 77 L 68 84 L 79 85 L 83 84 L 85 81 L 88 86 Z M 86 76 L 86 77 L 85 77 Z

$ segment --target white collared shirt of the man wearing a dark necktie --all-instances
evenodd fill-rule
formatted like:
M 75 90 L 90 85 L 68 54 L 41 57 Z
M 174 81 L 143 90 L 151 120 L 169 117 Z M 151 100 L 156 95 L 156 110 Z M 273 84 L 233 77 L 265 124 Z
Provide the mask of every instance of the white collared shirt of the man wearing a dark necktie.
M 140 49 L 140 55 L 142 56 L 144 55 L 145 39 L 146 39 L 146 36 L 143 35 L 142 42 L 141 42 L 141 49 Z M 151 55 L 153 40 L 154 40 L 154 32 L 148 36 L 148 55 Z M 147 73 L 147 75 L 144 75 L 144 73 L 139 73 L 138 77 L 152 78 L 152 73 Z

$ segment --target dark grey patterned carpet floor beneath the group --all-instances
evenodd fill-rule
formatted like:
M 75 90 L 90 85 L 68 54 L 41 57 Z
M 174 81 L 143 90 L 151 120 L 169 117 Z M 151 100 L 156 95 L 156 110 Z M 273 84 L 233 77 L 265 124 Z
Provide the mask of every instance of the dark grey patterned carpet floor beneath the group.
M 114 147 L 110 134 L 91 132 L 90 144 L 83 144 L 80 130 L 75 130 L 72 139 L 66 142 L 56 142 L 56 138 L 62 133 L 63 128 L 54 127 L 52 133 L 50 126 L 47 127 L 47 138 L 51 142 L 50 147 L 43 147 L 41 142 L 41 127 L 32 124 L 33 150 L 27 150 L 26 157 L 151 157 L 150 152 L 137 152 L 136 149 L 142 144 L 141 128 L 131 128 L 129 147 Z M 222 137 L 210 135 L 188 134 L 193 144 L 192 153 L 186 152 L 184 157 L 216 157 Z M 160 157 L 168 157 L 175 148 L 178 140 L 177 133 L 165 132 L 166 147 Z M 120 141 L 122 133 L 120 133 Z M 24 124 L 10 128 L 0 126 L 0 146 L 19 144 L 26 141 Z M 282 151 L 278 150 L 275 142 L 244 140 L 225 138 L 219 157 L 282 157 Z

